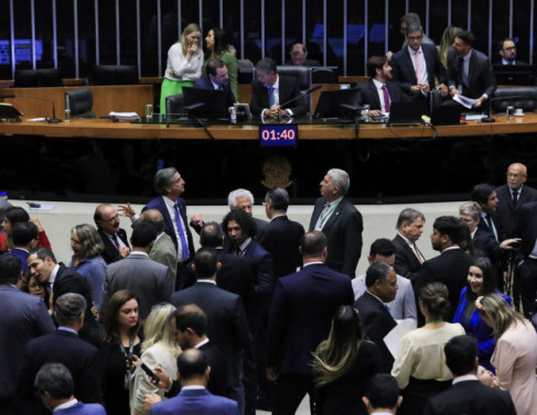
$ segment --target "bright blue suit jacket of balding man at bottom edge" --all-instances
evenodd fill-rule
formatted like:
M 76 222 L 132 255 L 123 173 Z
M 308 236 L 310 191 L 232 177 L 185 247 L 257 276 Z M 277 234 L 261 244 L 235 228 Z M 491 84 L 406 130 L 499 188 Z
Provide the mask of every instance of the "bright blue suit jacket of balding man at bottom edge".
M 238 415 L 235 401 L 212 395 L 206 389 L 181 391 L 178 396 L 159 402 L 150 415 Z

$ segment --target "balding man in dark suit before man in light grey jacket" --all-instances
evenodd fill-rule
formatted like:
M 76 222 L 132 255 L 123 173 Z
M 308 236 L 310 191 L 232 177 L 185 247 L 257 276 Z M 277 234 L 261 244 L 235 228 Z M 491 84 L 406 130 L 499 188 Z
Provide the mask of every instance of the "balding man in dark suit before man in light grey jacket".
M 367 269 L 365 285 L 367 291 L 354 303 L 354 307 L 358 310 L 365 335 L 382 352 L 383 371 L 389 373 L 394 365 L 394 357 L 384 338 L 397 323 L 389 314 L 386 303 L 393 302 L 396 297 L 397 275 L 391 266 L 379 262 Z

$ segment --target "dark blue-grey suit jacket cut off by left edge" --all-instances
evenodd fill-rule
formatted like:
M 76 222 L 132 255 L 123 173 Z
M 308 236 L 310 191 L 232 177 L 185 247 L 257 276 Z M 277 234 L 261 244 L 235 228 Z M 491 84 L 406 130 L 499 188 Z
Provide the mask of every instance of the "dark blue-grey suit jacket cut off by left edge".
M 54 331 L 42 298 L 13 285 L 0 285 L 0 396 L 14 393 L 26 343 Z

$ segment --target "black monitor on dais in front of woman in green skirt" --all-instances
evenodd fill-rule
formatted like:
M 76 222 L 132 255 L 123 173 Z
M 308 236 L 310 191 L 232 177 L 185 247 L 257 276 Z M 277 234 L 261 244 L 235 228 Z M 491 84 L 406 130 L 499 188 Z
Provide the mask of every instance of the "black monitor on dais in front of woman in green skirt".
M 191 118 L 229 119 L 227 96 L 223 90 L 183 87 L 183 105 Z

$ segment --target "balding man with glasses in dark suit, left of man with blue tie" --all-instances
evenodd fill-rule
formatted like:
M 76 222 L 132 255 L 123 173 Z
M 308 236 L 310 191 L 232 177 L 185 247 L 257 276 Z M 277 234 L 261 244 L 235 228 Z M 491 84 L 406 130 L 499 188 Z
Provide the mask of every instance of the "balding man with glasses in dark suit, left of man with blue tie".
M 95 225 L 105 244 L 103 259 L 107 264 L 122 260 L 130 253 L 129 241 L 125 229 L 119 228 L 119 215 L 114 206 L 108 204 L 95 208 Z

